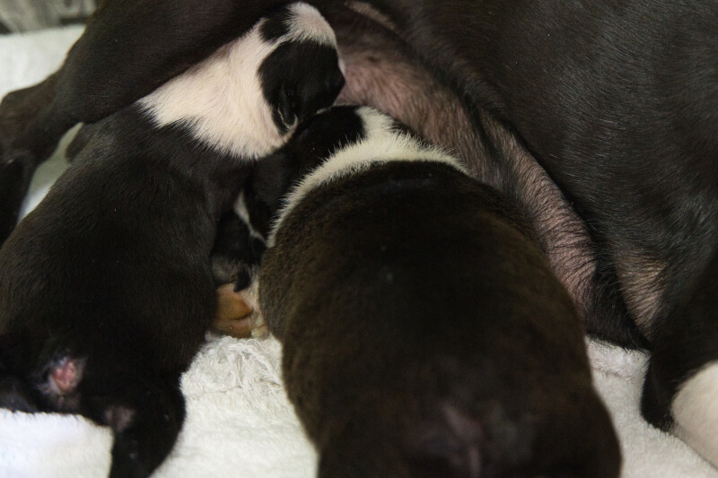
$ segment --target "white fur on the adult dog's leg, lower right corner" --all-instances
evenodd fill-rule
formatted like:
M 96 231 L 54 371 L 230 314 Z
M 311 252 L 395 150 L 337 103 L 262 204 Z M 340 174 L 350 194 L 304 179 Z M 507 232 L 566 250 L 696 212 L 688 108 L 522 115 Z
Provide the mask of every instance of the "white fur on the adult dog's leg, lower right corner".
M 718 361 L 680 387 L 671 412 L 673 433 L 718 467 Z

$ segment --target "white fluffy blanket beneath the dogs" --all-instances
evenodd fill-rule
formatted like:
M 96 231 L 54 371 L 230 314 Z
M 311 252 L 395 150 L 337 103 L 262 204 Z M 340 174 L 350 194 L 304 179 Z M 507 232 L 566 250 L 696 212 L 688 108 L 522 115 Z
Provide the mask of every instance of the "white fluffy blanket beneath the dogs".
M 54 71 L 78 27 L 0 36 L 0 97 Z M 62 149 L 62 146 L 61 148 Z M 61 154 L 44 164 L 27 208 L 64 169 Z M 683 442 L 652 429 L 638 404 L 646 357 L 589 343 L 596 386 L 621 438 L 625 478 L 718 478 Z M 310 478 L 316 455 L 287 402 L 274 339 L 207 343 L 185 374 L 188 418 L 155 476 L 166 478 Z M 0 410 L 0 476 L 106 476 L 112 437 L 82 418 Z

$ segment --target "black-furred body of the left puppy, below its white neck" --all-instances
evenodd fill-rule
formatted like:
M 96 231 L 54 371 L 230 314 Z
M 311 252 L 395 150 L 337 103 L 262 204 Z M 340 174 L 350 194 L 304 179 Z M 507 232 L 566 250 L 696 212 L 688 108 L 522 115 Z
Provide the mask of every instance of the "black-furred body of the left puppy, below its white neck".
M 180 431 L 180 373 L 214 317 L 215 223 L 248 173 L 133 108 L 103 120 L 0 249 L 2 381 L 23 388 L 3 404 L 108 425 L 110 475 L 150 474 Z M 85 363 L 62 394 L 55 357 Z

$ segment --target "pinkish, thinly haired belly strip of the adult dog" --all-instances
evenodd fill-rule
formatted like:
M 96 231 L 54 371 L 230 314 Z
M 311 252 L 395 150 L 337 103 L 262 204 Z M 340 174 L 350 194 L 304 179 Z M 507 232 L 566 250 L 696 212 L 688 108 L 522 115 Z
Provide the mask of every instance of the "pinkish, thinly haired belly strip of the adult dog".
M 357 20 L 357 18 L 359 20 Z M 328 14 L 337 32 L 346 86 L 339 101 L 372 106 L 460 158 L 472 176 L 511 197 L 526 215 L 554 272 L 589 326 L 601 324 L 594 307 L 593 244 L 585 225 L 545 169 L 502 122 L 488 113 L 469 117 L 459 98 L 437 80 L 390 26 L 360 13 Z M 482 133 L 483 132 L 483 135 Z M 496 150 L 511 161 L 496 159 Z M 630 327 L 594 327 L 622 343 Z

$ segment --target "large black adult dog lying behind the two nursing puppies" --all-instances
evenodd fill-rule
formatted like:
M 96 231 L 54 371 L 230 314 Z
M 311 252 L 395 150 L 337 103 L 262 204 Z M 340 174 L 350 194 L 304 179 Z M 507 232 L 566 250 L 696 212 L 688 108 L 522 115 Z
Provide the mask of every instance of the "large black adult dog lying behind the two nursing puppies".
M 57 74 L 0 105 L 5 229 L 31 171 L 69 126 L 152 91 L 278 3 L 101 5 Z M 460 102 L 481 153 L 462 159 L 524 209 L 588 331 L 651 349 L 646 419 L 718 464 L 718 6 L 310 3 L 338 31 L 355 28 L 346 8 L 365 13 Z M 553 182 L 537 190 L 516 167 L 527 158 Z M 530 201 L 554 184 L 557 203 Z

